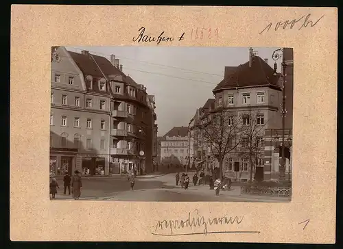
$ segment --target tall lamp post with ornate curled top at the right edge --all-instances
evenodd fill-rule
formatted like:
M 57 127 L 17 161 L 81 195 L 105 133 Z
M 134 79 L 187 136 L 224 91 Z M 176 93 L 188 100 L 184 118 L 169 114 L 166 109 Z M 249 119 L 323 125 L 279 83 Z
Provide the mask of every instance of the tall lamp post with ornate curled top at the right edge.
M 286 77 L 286 62 L 285 62 L 285 57 L 283 56 L 283 49 L 276 49 L 273 54 L 272 58 L 275 61 L 274 63 L 274 76 L 277 75 L 276 69 L 276 61 L 282 57 L 282 109 L 281 109 L 281 116 L 282 116 L 282 144 L 281 144 L 281 170 L 280 170 L 280 180 L 285 180 L 285 116 L 286 116 L 286 95 L 285 95 L 285 77 Z

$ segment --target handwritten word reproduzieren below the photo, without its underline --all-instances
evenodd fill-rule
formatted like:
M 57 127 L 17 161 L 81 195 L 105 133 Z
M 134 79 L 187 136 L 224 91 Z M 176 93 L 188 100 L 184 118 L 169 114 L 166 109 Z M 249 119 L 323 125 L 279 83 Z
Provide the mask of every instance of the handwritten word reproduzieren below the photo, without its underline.
M 202 227 L 204 228 L 203 234 L 209 233 L 207 228 L 213 225 L 225 225 L 225 224 L 240 224 L 244 217 L 238 218 L 235 217 L 228 217 L 226 215 L 217 218 L 204 218 L 204 216 L 199 215 L 199 211 L 196 209 L 193 212 L 188 213 L 187 220 L 159 220 L 155 227 L 155 232 L 161 232 L 164 229 L 170 231 L 172 235 L 174 230 L 182 229 L 185 227 L 188 228 L 196 228 Z

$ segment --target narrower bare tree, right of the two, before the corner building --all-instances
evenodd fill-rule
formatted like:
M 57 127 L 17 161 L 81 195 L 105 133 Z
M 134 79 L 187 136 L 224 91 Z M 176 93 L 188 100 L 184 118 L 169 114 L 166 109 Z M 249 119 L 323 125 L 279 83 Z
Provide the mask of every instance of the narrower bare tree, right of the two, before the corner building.
M 255 171 L 257 163 L 263 155 L 263 136 L 267 122 L 265 122 L 263 112 L 251 108 L 246 112 L 241 112 L 240 118 L 242 120 L 239 134 L 241 136 L 241 154 L 249 160 L 250 183 L 252 183 L 252 172 Z

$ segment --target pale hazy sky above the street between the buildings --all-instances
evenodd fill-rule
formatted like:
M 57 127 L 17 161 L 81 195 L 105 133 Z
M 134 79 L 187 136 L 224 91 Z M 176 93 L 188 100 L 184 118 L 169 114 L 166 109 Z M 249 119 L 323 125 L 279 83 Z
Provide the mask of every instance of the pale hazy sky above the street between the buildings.
M 158 136 L 173 127 L 188 127 L 189 121 L 224 78 L 225 66 L 249 60 L 248 47 L 66 47 L 80 53 L 88 50 L 123 64 L 123 73 L 155 95 Z M 272 53 L 278 48 L 252 47 L 273 67 Z M 278 62 L 278 71 L 280 62 Z

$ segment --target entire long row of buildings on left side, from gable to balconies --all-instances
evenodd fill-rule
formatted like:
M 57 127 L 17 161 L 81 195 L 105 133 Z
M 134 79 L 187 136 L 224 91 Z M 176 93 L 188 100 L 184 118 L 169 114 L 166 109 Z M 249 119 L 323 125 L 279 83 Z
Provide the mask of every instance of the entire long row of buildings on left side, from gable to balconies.
M 64 47 L 53 52 L 51 168 L 86 174 L 150 172 L 154 125 L 146 88 L 121 71 L 115 55 L 108 61 Z

